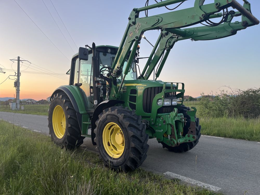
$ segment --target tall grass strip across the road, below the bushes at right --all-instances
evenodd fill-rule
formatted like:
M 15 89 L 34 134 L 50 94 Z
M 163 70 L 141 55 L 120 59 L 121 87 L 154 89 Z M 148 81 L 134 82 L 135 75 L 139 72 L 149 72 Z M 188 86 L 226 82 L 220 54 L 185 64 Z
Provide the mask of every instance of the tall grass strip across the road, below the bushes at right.
M 203 135 L 260 141 L 260 118 L 200 118 L 200 125 Z

